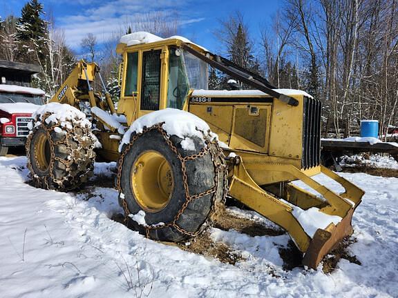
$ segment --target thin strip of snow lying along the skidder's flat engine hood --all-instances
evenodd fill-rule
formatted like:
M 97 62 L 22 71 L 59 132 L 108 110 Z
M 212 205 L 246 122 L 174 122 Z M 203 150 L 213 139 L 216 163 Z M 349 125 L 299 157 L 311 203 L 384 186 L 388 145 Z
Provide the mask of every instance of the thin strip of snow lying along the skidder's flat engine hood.
M 295 90 L 295 89 L 273 89 L 274 91 L 281 93 L 283 95 L 303 95 L 305 97 L 310 97 L 313 99 L 311 95 L 303 90 Z M 267 93 L 260 90 L 193 90 L 193 96 L 207 96 L 207 97 L 229 97 L 229 96 L 264 96 Z

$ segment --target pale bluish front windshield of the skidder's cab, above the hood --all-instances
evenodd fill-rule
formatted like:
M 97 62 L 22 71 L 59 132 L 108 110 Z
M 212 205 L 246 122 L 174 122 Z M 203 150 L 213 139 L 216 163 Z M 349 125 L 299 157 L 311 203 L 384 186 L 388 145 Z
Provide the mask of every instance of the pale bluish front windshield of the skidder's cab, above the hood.
M 187 51 L 184 51 L 184 60 L 190 88 L 207 90 L 209 88 L 209 64 Z

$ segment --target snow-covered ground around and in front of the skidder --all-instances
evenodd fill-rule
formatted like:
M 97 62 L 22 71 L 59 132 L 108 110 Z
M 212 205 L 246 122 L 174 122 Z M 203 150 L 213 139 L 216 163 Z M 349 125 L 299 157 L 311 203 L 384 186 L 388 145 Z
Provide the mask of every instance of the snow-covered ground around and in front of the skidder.
M 122 211 L 113 188 L 37 189 L 25 164 L 0 157 L 0 297 L 397 297 L 398 178 L 342 174 L 366 190 L 349 248 L 361 266 L 341 259 L 324 274 L 282 269 L 287 235 L 213 228 L 211 239 L 243 257 L 235 265 L 145 239 L 110 219 Z M 104 177 L 115 164 L 95 166 Z

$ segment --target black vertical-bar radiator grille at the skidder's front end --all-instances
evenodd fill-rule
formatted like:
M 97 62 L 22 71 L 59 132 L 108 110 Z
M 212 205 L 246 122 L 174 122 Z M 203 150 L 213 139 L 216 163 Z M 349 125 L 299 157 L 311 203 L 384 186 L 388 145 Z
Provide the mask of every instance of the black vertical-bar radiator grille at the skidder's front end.
M 321 159 L 321 101 L 304 97 L 301 168 L 318 166 Z

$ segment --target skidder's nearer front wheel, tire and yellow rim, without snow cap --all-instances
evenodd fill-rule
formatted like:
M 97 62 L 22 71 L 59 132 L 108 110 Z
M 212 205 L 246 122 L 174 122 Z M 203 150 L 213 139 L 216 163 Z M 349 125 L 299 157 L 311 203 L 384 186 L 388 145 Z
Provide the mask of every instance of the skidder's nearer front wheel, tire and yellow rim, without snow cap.
M 227 170 L 216 141 L 168 136 L 160 124 L 132 134 L 118 161 L 117 188 L 128 225 L 151 239 L 179 242 L 198 235 L 224 201 Z M 187 138 L 185 138 L 187 141 Z M 137 220 L 143 215 L 144 221 Z M 131 220 L 130 218 L 133 218 Z

